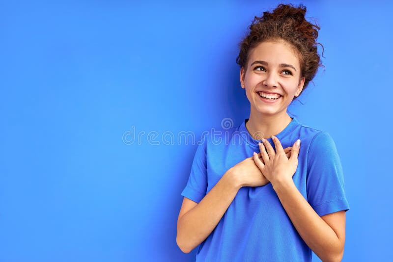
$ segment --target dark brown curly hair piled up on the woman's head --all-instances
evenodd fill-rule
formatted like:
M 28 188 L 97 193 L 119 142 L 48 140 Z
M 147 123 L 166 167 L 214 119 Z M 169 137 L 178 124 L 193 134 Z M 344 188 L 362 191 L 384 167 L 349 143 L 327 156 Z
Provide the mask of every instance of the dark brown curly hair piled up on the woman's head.
M 316 38 L 320 27 L 311 24 L 305 19 L 306 6 L 299 4 L 294 7 L 292 4 L 279 4 L 272 12 L 263 12 L 261 17 L 254 17 L 248 28 L 250 32 L 239 43 L 240 52 L 236 57 L 236 63 L 247 71 L 247 62 L 250 51 L 264 41 L 286 41 L 294 47 L 297 58 L 300 62 L 301 78 L 305 77 L 303 90 L 306 89 L 318 70 L 320 57 L 317 53 Z M 322 46 L 322 45 L 321 45 Z M 323 56 L 323 46 L 322 46 Z M 299 94 L 299 96 L 300 96 Z

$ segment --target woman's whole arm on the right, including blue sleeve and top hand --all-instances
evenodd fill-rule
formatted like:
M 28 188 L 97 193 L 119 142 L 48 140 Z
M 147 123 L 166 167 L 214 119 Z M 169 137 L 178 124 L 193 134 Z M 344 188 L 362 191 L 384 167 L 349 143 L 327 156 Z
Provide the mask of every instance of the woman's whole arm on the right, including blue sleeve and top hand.
M 341 166 L 331 137 L 327 133 L 316 137 L 320 139 L 313 140 L 317 142 L 314 147 L 311 142 L 312 149 L 309 150 L 307 186 L 310 203 L 292 179 L 298 165 L 300 140 L 299 144 L 294 144 L 291 157 L 287 159 L 283 157 L 278 138 L 272 137 L 277 153 L 266 140 L 260 145 L 265 163 L 256 156 L 254 159 L 272 183 L 281 205 L 306 244 L 322 261 L 340 261 L 344 252 L 345 210 L 348 210 Z

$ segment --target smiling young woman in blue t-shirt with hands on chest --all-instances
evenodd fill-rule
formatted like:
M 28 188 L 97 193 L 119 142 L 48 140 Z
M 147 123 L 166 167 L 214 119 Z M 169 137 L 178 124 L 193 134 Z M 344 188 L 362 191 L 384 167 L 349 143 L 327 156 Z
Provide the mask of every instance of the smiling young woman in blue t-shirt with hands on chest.
M 349 205 L 335 143 L 287 113 L 321 65 L 305 13 L 279 4 L 240 43 L 250 117 L 204 137 L 181 193 L 176 242 L 185 253 L 200 244 L 197 261 L 342 259 Z

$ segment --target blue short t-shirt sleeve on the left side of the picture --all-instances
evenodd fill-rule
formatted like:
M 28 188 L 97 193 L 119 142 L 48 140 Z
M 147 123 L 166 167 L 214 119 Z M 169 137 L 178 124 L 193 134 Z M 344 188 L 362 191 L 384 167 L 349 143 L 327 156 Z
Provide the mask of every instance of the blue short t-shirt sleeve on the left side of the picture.
M 195 152 L 190 177 L 181 195 L 199 203 L 206 195 L 207 166 L 206 166 L 206 137 Z

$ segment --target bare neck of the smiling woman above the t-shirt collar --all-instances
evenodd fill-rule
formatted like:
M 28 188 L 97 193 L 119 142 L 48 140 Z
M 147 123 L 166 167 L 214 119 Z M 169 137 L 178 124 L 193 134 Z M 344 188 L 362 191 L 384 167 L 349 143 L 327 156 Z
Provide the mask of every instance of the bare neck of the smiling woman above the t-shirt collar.
M 284 130 L 291 120 L 286 110 L 276 115 L 264 115 L 252 110 L 246 128 L 254 139 L 267 139 Z

